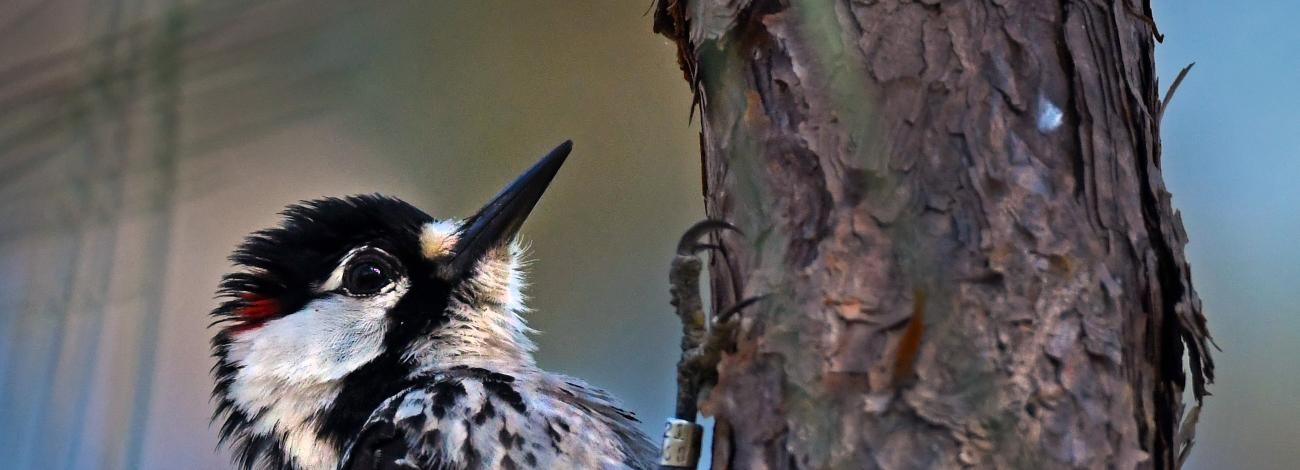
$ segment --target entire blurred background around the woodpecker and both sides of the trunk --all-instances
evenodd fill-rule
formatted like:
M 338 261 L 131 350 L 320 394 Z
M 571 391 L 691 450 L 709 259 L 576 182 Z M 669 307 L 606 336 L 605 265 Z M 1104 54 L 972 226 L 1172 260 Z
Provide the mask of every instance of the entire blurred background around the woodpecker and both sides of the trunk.
M 283 205 L 464 216 L 576 149 L 525 236 L 542 366 L 656 434 L 666 270 L 702 217 L 697 130 L 650 1 L 0 3 L 0 462 L 224 469 L 212 292 Z M 1225 348 L 1192 467 L 1300 461 L 1300 6 L 1157 4 L 1165 169 Z

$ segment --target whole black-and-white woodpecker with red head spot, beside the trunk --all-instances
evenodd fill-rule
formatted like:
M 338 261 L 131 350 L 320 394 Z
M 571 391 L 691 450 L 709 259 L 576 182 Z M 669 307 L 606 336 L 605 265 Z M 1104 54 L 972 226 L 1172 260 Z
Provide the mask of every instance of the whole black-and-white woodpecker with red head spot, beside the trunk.
M 636 417 L 533 361 L 516 239 L 566 142 L 464 219 L 386 196 L 289 206 L 212 315 L 213 422 L 242 469 L 649 469 Z

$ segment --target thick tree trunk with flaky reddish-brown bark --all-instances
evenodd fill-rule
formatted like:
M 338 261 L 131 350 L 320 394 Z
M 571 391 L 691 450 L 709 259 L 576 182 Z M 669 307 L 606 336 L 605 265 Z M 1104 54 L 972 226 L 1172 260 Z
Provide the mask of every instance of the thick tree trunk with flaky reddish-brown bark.
M 702 399 L 716 467 L 1180 464 L 1213 362 L 1147 1 L 660 0 L 655 30 L 745 231 L 715 308 L 770 295 Z

